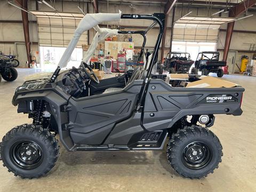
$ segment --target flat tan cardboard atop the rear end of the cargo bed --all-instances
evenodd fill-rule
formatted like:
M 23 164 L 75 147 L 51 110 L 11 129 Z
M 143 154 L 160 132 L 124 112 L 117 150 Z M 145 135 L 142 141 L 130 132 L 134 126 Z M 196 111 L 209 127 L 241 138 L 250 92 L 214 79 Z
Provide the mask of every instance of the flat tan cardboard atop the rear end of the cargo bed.
M 218 87 L 236 87 L 237 84 L 225 81 L 216 77 L 201 76 L 201 80 L 195 82 L 188 82 L 186 87 L 190 88 L 218 88 Z

